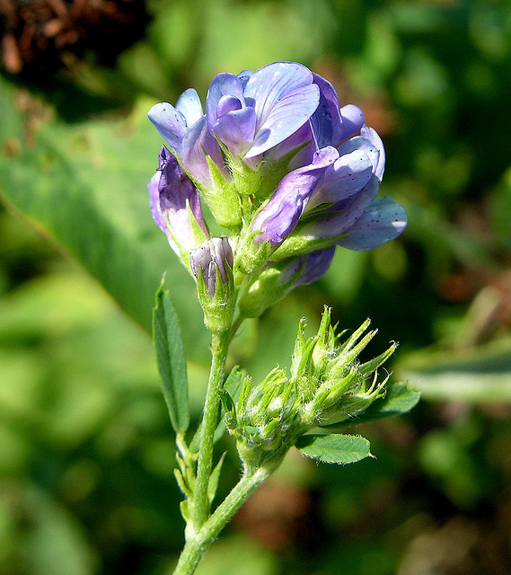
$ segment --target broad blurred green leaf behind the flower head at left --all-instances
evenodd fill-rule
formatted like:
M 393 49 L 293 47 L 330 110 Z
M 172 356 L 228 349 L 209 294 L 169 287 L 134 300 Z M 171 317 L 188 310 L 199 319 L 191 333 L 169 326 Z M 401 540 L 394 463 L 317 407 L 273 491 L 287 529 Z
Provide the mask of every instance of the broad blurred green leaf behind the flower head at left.
M 147 331 L 167 270 L 172 300 L 187 314 L 183 337 L 205 360 L 193 282 L 149 210 L 146 185 L 163 143 L 145 117 L 152 103 L 123 118 L 67 124 L 0 78 L 0 198 L 20 225 L 63 245 Z

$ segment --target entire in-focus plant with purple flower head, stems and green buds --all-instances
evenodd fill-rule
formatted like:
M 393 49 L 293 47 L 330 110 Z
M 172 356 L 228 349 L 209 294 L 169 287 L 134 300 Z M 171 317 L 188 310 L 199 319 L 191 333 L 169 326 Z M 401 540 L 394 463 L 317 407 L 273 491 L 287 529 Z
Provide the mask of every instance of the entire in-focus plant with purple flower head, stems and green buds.
M 174 424 L 187 526 L 173 574 L 191 575 L 292 447 L 339 464 L 370 456 L 363 438 L 329 435 L 327 429 L 383 401 L 388 376 L 382 381 L 377 370 L 396 345 L 360 361 L 375 334 L 366 332 L 367 322 L 341 342 L 326 308 L 313 338 L 304 337 L 300 324 L 290 373 L 274 367 L 258 385 L 237 368 L 225 378 L 227 353 L 245 319 L 320 279 L 338 246 L 372 250 L 398 237 L 407 220 L 399 204 L 378 198 L 385 154 L 364 113 L 353 104 L 341 107 L 333 86 L 300 64 L 216 75 L 204 108 L 189 88 L 175 107 L 156 104 L 148 117 L 166 144 L 148 184 L 151 212 L 196 282 L 211 332 L 203 416 L 189 445 L 186 376 L 173 379 L 186 372 L 184 359 L 180 369 L 172 365 L 175 329 L 160 337 L 173 420 L 187 413 L 186 427 Z M 211 234 L 210 227 L 220 231 Z M 242 477 L 212 509 L 222 464 L 222 458 L 214 464 L 222 410 Z

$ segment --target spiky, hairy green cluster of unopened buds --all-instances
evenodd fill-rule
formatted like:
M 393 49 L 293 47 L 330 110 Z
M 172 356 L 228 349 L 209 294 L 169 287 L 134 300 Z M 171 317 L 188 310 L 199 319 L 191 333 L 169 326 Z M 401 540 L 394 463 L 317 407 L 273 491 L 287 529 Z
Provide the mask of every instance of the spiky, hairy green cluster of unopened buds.
M 236 438 L 243 464 L 278 465 L 296 440 L 313 428 L 356 418 L 385 393 L 388 375 L 378 381 L 377 369 L 397 344 L 376 358 L 361 362 L 359 354 L 374 338 L 366 320 L 344 341 L 335 333 L 325 308 L 316 335 L 304 336 L 304 320 L 295 342 L 290 374 L 275 367 L 260 385 L 245 377 L 236 403 L 223 393 L 225 423 Z

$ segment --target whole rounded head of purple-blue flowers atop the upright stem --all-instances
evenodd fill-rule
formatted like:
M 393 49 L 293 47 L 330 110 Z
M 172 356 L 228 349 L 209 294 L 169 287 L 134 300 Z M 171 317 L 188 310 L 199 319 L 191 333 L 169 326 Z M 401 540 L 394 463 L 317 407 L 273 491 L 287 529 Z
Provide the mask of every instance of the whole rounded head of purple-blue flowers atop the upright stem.
M 205 293 L 214 294 L 218 279 L 233 282 L 242 317 L 319 279 L 336 246 L 372 250 L 406 227 L 404 209 L 377 198 L 382 140 L 357 106 L 341 107 L 332 85 L 305 66 L 219 74 L 206 113 L 189 89 L 148 117 L 166 142 L 148 186 L 154 221 L 206 282 Z M 204 252 L 195 248 L 211 239 L 201 200 L 225 228 L 232 274 L 216 257 L 217 271 L 197 261 Z

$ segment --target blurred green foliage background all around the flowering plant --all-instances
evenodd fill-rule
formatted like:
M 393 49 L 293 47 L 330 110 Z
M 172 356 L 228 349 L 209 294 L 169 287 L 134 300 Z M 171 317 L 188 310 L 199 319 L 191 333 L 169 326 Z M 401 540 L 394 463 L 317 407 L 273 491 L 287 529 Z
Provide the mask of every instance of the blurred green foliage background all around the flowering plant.
M 199 575 L 511 572 L 511 4 L 0 3 L 0 572 L 157 575 L 179 553 L 172 434 L 148 327 L 163 270 L 198 417 L 207 333 L 154 226 L 145 112 L 218 72 L 296 60 L 382 135 L 402 237 L 338 251 L 233 349 L 289 364 L 298 319 L 367 315 L 423 400 L 356 429 L 376 460 L 290 454 Z M 235 481 L 233 446 L 220 491 Z

